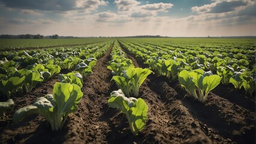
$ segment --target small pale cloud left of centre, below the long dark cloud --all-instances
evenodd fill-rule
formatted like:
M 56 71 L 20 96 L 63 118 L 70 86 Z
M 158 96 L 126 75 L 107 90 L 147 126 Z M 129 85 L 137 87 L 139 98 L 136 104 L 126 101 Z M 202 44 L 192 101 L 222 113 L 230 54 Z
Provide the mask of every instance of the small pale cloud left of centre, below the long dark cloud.
M 126 23 L 130 22 L 132 19 L 123 14 L 111 13 L 109 11 L 104 11 L 102 13 L 96 14 L 96 22 L 108 22 L 108 23 Z

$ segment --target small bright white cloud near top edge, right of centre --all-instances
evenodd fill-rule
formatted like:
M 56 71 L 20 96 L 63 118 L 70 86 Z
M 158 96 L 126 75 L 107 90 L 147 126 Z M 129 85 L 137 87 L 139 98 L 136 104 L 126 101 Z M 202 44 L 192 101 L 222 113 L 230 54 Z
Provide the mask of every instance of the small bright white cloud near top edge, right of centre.
M 146 4 L 140 6 L 144 10 L 154 10 L 154 11 L 166 11 L 168 8 L 171 8 L 173 4 L 165 4 L 165 3 L 156 3 L 156 4 Z

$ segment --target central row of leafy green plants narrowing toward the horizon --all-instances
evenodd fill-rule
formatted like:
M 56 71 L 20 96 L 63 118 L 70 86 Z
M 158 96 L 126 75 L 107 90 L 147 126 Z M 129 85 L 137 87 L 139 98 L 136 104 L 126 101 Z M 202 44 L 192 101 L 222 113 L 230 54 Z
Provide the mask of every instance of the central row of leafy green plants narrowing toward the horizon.
M 138 97 L 139 87 L 151 70 L 135 68 L 132 60 L 126 58 L 116 41 L 112 48 L 111 59 L 108 68 L 112 71 L 112 80 L 120 89 L 111 92 L 108 104 L 120 109 L 126 115 L 130 130 L 137 135 L 145 127 L 148 106 L 142 98 L 136 97 Z

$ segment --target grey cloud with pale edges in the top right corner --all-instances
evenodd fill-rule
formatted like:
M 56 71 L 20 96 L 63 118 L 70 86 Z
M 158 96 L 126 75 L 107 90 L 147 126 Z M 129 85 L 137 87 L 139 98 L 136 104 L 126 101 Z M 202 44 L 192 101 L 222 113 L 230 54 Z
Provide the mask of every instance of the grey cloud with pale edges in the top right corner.
M 225 13 L 229 11 L 235 11 L 239 7 L 243 7 L 249 4 L 250 1 L 215 1 L 212 4 L 203 5 L 201 7 L 195 6 L 191 10 L 197 13 Z

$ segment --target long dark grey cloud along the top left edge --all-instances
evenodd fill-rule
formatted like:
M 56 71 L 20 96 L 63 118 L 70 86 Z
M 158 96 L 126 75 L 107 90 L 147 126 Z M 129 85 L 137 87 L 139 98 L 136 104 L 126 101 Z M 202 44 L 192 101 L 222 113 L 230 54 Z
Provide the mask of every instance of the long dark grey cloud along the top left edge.
M 102 0 L 0 0 L 0 4 L 9 8 L 21 8 L 27 10 L 42 11 L 70 11 L 70 10 L 96 10 L 99 5 L 107 5 L 108 2 Z

